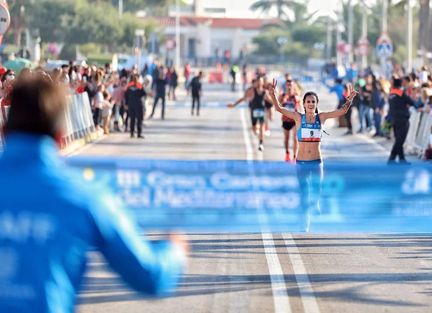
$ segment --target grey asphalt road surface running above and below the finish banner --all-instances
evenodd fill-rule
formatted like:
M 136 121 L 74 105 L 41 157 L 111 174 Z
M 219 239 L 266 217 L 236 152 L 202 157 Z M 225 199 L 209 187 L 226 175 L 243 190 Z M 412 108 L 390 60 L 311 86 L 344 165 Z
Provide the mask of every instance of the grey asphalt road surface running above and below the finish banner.
M 283 160 L 280 116 L 271 124 L 264 152 L 249 130 L 245 108 L 219 103 L 239 94 L 204 86 L 210 104 L 192 117 L 186 95 L 169 103 L 165 120 L 146 121 L 146 139 L 116 133 L 76 154 L 182 160 Z M 320 110 L 336 100 L 321 89 Z M 277 114 L 277 113 L 276 113 Z M 372 134 L 342 136 L 326 123 L 324 160 L 385 162 L 391 143 Z M 411 160 L 415 160 L 410 158 Z M 149 234 L 159 239 L 161 234 Z M 78 296 L 79 313 L 109 312 L 430 312 L 432 237 L 428 233 L 325 235 L 305 233 L 192 233 L 191 256 L 176 293 L 147 299 L 131 291 L 89 251 L 89 270 Z

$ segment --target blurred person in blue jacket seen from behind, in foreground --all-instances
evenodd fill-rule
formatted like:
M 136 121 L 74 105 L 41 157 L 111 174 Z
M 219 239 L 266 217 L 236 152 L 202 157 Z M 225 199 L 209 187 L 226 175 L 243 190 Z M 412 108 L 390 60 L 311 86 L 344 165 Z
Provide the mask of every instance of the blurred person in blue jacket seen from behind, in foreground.
M 0 157 L 2 313 L 73 312 L 90 246 L 131 287 L 158 296 L 175 287 L 186 261 L 181 237 L 153 243 L 140 236 L 118 198 L 59 157 L 61 88 L 40 78 L 11 93 Z

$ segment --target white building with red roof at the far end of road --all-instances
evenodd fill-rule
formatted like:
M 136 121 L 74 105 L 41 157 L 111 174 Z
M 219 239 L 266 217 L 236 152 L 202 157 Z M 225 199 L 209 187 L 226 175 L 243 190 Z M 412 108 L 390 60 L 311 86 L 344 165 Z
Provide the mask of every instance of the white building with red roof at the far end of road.
M 214 3 L 214 1 L 212 1 Z M 223 7 L 205 7 L 202 0 L 195 0 L 194 6 L 184 7 L 180 12 L 180 56 L 187 58 L 219 58 L 229 50 L 236 59 L 240 51 L 248 48 L 252 38 L 260 33 L 261 27 L 274 20 L 259 18 L 224 17 Z M 175 11 L 171 11 L 170 15 Z M 165 30 L 165 36 L 175 38 L 175 16 L 153 18 Z M 151 46 L 152 38 L 149 38 Z M 156 46 L 156 45 L 155 45 Z M 152 51 L 150 51 L 152 52 Z M 163 51 L 154 51 L 163 52 Z

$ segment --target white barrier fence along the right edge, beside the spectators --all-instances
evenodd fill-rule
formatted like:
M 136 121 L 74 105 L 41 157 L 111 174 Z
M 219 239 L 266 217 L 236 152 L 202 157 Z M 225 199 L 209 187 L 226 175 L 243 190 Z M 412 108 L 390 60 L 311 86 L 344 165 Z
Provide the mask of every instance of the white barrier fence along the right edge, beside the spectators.
M 408 129 L 405 149 L 411 154 L 424 159 L 425 151 L 429 144 L 431 134 L 432 116 L 426 112 L 412 112 L 410 116 L 410 128 Z

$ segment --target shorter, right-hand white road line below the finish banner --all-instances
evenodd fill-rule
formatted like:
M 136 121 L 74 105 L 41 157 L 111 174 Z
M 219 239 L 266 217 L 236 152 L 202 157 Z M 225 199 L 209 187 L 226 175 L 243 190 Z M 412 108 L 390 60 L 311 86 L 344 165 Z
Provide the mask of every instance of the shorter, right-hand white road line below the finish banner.
M 303 307 L 306 313 L 319 313 L 317 300 L 312 289 L 311 282 L 308 278 L 308 272 L 303 264 L 302 256 L 295 245 L 294 238 L 291 233 L 283 233 L 288 256 L 291 260 L 292 268 L 295 275 L 295 280 L 299 286 L 300 297 L 302 298 Z

